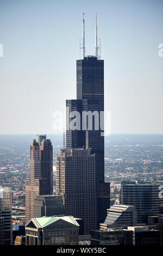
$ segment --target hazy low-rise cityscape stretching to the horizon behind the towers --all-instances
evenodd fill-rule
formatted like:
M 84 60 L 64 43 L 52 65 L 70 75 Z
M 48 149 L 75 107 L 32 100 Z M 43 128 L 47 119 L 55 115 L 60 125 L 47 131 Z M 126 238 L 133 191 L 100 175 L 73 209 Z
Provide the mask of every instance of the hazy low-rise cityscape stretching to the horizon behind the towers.
M 25 224 L 25 179 L 29 177 L 29 144 L 35 135 L 0 137 L 0 185 L 12 188 L 12 229 L 17 234 L 25 235 L 25 231 L 18 229 Z M 62 148 L 62 135 L 47 137 L 52 139 L 53 144 L 55 195 L 56 156 Z M 105 138 L 105 182 L 110 182 L 110 205 L 120 204 L 121 182 L 158 182 L 163 185 L 162 147 L 163 135 L 110 135 Z M 82 245 L 82 241 L 79 244 Z

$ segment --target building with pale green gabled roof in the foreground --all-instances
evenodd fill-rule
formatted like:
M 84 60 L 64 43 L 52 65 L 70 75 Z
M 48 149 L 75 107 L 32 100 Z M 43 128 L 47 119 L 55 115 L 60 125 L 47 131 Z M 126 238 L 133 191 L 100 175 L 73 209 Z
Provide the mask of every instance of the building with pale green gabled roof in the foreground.
M 26 245 L 78 245 L 79 224 L 72 216 L 32 218 Z

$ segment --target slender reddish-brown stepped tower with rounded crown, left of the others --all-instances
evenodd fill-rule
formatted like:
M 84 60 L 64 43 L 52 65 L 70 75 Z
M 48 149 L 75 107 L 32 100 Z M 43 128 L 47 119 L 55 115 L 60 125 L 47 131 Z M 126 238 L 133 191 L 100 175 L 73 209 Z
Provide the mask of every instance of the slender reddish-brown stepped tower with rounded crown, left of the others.
M 53 193 L 53 147 L 46 135 L 37 135 L 30 145 L 30 178 L 26 179 L 26 223 L 33 218 L 37 195 Z

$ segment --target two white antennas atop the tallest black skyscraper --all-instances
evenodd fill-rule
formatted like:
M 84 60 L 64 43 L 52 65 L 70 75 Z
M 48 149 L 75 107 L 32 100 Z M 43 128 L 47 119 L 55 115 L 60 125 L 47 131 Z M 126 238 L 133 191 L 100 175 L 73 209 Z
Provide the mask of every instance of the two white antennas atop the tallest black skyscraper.
M 83 47 L 80 45 L 80 49 L 83 49 L 83 59 L 85 58 L 85 28 L 84 28 L 84 13 L 83 13 Z M 99 55 L 98 55 L 99 49 Z M 95 56 L 101 59 L 101 39 L 99 39 L 99 47 L 97 44 L 97 14 L 96 14 L 96 36 L 95 36 Z

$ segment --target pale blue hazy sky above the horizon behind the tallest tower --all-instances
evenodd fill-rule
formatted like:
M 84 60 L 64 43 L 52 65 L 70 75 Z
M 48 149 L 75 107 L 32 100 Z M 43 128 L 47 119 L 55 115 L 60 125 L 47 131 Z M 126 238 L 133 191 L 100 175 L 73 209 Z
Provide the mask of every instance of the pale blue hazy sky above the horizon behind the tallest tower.
M 0 0 L 0 133 L 54 132 L 76 99 L 83 12 L 86 55 L 97 13 L 111 132 L 163 133 L 162 0 Z

